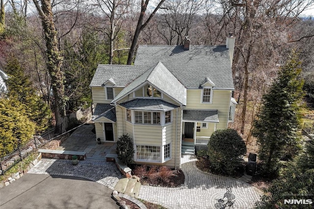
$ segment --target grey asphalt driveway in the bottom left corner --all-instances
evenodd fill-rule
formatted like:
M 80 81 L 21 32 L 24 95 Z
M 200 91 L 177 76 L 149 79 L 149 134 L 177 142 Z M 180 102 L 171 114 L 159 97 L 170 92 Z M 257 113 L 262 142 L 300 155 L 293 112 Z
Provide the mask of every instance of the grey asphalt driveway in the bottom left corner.
M 27 173 L 0 189 L 1 209 L 119 209 L 112 190 L 78 177 Z

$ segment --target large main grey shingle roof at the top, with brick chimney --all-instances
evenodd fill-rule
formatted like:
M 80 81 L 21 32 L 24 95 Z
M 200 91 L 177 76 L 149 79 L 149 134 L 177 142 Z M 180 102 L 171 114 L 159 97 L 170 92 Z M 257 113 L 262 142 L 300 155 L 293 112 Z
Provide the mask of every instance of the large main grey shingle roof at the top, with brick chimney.
M 209 78 L 216 89 L 234 89 L 229 52 L 226 46 L 140 45 L 134 65 L 153 66 L 161 61 L 186 88 L 199 88 Z

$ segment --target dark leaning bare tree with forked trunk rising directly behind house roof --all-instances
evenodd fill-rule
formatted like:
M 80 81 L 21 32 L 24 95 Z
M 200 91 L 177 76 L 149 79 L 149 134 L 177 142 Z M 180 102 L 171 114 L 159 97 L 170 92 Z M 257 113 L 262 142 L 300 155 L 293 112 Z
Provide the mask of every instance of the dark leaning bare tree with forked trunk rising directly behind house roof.
M 162 3 L 165 0 L 160 0 L 159 3 L 157 4 L 157 6 L 155 7 L 154 11 L 150 14 L 150 16 L 147 18 L 147 20 L 144 22 L 144 18 L 146 16 L 146 10 L 147 10 L 147 6 L 149 3 L 149 0 L 141 0 L 141 11 L 140 11 L 140 15 L 137 21 L 137 26 L 133 35 L 133 39 L 132 39 L 132 44 L 131 44 L 131 48 L 129 51 L 129 56 L 128 56 L 128 61 L 127 64 L 131 65 L 133 58 L 134 58 L 134 52 L 137 46 L 137 41 L 139 38 L 139 34 L 140 32 L 147 26 L 147 24 L 150 22 L 150 20 L 154 17 L 154 15 L 156 14 L 157 10 L 160 8 L 160 6 L 162 5 Z

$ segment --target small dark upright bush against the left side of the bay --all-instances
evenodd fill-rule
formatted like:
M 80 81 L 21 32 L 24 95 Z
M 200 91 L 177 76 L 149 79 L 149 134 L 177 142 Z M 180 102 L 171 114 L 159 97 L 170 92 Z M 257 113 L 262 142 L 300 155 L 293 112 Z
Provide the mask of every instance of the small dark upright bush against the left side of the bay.
M 119 140 L 117 141 L 116 153 L 118 155 L 118 159 L 122 163 L 126 165 L 131 164 L 134 149 L 132 139 L 128 133 L 119 137 Z

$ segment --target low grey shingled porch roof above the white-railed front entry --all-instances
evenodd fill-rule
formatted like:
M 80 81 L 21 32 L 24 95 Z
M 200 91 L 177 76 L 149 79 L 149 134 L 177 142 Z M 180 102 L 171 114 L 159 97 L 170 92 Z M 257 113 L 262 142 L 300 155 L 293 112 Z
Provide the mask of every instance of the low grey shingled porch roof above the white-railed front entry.
M 218 111 L 216 109 L 211 109 L 211 110 L 183 109 L 183 121 L 219 123 Z

